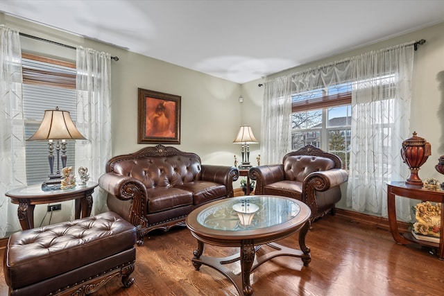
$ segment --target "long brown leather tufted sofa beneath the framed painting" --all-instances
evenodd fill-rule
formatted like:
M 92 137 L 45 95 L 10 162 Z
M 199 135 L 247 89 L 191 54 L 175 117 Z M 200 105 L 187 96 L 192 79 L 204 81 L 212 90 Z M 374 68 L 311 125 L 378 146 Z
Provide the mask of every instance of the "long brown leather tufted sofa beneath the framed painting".
M 153 229 L 185 225 L 187 215 L 207 202 L 232 197 L 239 170 L 203 165 L 195 153 L 157 145 L 110 159 L 99 186 L 108 208 L 137 227 L 137 243 Z

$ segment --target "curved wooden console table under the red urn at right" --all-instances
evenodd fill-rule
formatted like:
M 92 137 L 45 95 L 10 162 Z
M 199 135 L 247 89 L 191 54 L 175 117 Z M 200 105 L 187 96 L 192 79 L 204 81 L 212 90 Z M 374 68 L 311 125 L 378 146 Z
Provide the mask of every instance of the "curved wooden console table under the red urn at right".
M 415 200 L 441 202 L 441 235 L 439 238 L 439 243 L 417 240 L 410 232 L 403 235 L 398 232 L 398 223 L 396 221 L 395 195 L 405 198 L 413 198 Z M 444 259 L 444 190 L 439 188 L 425 189 L 422 188 L 422 186 L 410 185 L 406 184 L 405 182 L 388 182 L 387 210 L 388 223 L 390 224 L 391 234 L 397 243 L 406 245 L 413 242 L 428 247 L 438 248 L 439 259 Z

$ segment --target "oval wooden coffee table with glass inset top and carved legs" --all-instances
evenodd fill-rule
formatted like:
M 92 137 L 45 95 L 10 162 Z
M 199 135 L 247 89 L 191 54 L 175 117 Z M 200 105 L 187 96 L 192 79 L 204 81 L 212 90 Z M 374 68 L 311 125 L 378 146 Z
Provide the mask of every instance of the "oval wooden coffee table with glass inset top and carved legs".
M 259 197 L 261 195 L 250 196 Z M 224 213 L 227 213 L 233 201 L 230 202 L 222 200 L 212 202 L 208 205 L 203 206 L 203 209 L 196 209 L 187 217 L 187 226 L 191 230 L 191 234 L 195 238 L 197 238 L 198 243 L 198 247 L 196 250 L 194 250 L 194 257 L 192 259 L 194 268 L 196 270 L 199 270 L 201 265 L 207 265 L 214 268 L 215 270 L 218 270 L 219 272 L 221 272 L 221 274 L 225 275 L 225 277 L 232 281 L 232 284 L 234 284 L 234 286 L 237 288 L 239 295 L 253 294 L 253 287 L 250 284 L 250 273 L 253 272 L 253 270 L 255 270 L 255 268 L 257 268 L 259 265 L 262 265 L 262 263 L 270 259 L 273 259 L 277 256 L 294 256 L 302 259 L 304 266 L 308 266 L 311 261 L 310 248 L 305 245 L 305 236 L 307 236 L 307 232 L 309 231 L 310 227 L 310 210 L 307 205 L 299 202 L 298 200 L 291 200 L 289 198 L 273 197 L 269 195 L 265 196 L 268 200 L 263 204 L 259 204 L 259 202 L 262 202 L 262 200 L 259 200 L 258 202 L 257 200 L 254 200 L 254 198 L 252 199 L 252 203 L 257 202 L 259 204 L 259 207 L 262 208 L 263 214 L 266 214 L 262 215 L 262 217 L 270 216 L 270 211 L 266 212 L 266 209 L 270 205 L 273 205 L 273 202 L 276 201 L 273 200 L 273 198 L 276 198 L 278 202 L 295 203 L 297 207 L 300 207 L 300 210 L 298 211 L 298 214 L 294 215 L 291 218 L 288 218 L 288 220 L 286 220 L 287 218 L 281 219 L 282 221 L 284 221 L 282 223 L 276 223 L 275 225 L 271 224 L 269 227 L 263 227 L 264 225 L 261 225 L 261 227 L 257 228 L 251 227 L 250 229 L 248 229 L 247 227 L 246 229 L 240 228 L 236 230 L 219 230 L 205 227 L 205 223 L 203 223 L 204 225 L 202 225 L 202 221 L 200 219 L 200 214 L 203 213 L 205 216 L 205 211 L 210 211 L 212 213 L 215 211 L 214 209 L 222 209 Z M 230 200 L 234 199 L 235 198 L 232 198 Z M 228 206 L 225 207 L 225 204 L 223 203 L 228 204 Z M 277 211 L 272 211 L 272 213 L 275 216 L 279 215 L 277 214 Z M 216 214 L 214 216 L 219 218 L 219 216 Z M 257 218 L 261 219 L 262 217 L 259 211 L 259 213 L 257 213 Z M 266 218 L 263 219 L 266 220 Z M 233 223 L 232 216 L 225 217 L 225 220 L 226 223 Z M 218 222 L 219 224 L 221 224 L 221 221 Z M 300 250 L 293 249 L 291 247 L 284 247 L 282 245 L 278 245 L 278 243 L 274 243 L 275 241 L 278 241 L 297 232 L 299 232 L 298 241 Z M 209 243 L 210 245 L 218 245 L 221 247 L 240 247 L 240 253 L 221 258 L 202 256 L 205 248 L 205 243 Z M 273 250 L 271 250 L 271 252 L 263 254 L 262 256 L 256 257 L 256 251 L 262 245 L 267 245 Z M 232 269 L 229 268 L 230 266 L 228 266 L 228 264 L 234 263 L 236 261 L 240 261 L 240 272 L 234 272 Z

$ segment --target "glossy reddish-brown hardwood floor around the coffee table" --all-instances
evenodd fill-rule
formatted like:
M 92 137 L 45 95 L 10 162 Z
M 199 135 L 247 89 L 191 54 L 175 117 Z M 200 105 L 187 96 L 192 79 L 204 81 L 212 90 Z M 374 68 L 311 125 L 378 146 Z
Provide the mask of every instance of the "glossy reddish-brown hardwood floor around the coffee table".
M 444 295 L 444 261 L 416 245 L 396 244 L 385 229 L 327 215 L 313 223 L 306 242 L 309 266 L 288 256 L 264 263 L 250 278 L 254 295 Z M 297 236 L 280 243 L 298 245 Z M 237 295 L 216 270 L 205 265 L 194 270 L 195 248 L 196 239 L 187 228 L 152 234 L 137 247 L 135 284 L 122 288 L 120 279 L 113 279 L 94 295 Z M 205 245 L 204 255 L 235 251 Z M 1 260 L 3 253 L 0 250 Z M 0 295 L 7 295 L 3 271 L 0 276 Z

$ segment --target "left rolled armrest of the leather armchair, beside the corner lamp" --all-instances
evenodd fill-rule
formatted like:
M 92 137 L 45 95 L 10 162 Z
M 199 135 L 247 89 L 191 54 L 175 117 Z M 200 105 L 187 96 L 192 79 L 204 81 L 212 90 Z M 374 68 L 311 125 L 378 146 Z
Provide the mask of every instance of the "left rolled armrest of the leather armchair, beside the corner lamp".
M 248 177 L 256 181 L 255 194 L 262 194 L 264 193 L 264 186 L 267 184 L 284 180 L 284 165 L 255 166 L 248 171 Z

